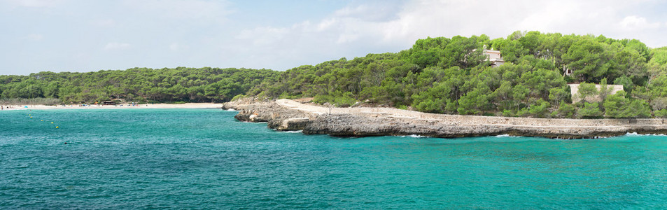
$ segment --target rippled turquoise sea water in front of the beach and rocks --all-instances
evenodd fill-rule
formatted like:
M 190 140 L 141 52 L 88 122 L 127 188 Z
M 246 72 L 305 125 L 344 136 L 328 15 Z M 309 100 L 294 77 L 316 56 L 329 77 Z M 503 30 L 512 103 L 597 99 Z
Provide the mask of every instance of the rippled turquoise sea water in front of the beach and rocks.
M 337 138 L 236 113 L 0 111 L 0 209 L 667 208 L 663 136 Z

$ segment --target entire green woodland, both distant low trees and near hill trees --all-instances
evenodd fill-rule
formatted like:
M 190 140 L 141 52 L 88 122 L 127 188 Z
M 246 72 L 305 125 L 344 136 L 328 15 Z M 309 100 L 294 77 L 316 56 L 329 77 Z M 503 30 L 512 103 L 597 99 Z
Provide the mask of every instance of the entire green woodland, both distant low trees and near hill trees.
M 484 50 L 492 49 L 500 50 L 505 64 L 491 67 Z M 571 104 L 567 83 L 582 83 L 584 100 Z M 623 85 L 625 91 L 610 94 L 591 83 Z M 287 71 L 179 67 L 0 76 L 0 98 L 226 102 L 241 96 L 314 97 L 337 106 L 363 102 L 488 116 L 664 118 L 667 48 L 648 48 L 634 39 L 516 31 L 496 39 L 426 38 L 398 53 Z M 594 97 L 601 102 L 590 100 Z

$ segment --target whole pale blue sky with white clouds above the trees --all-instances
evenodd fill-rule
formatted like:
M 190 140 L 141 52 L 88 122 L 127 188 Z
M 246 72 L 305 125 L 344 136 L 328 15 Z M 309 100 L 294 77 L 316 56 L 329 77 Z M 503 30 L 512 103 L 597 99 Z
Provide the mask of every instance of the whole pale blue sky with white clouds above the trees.
M 658 0 L 0 0 L 0 74 L 148 67 L 284 71 L 513 31 L 667 46 Z

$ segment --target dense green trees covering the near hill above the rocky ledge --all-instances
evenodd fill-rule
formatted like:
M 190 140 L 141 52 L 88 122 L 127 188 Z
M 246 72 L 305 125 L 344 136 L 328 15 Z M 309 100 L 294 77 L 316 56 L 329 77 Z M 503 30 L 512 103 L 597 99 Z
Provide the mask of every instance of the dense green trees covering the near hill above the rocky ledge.
M 500 50 L 507 63 L 491 67 L 484 49 Z M 493 40 L 486 35 L 425 38 L 398 53 L 290 69 L 260 96 L 315 97 L 315 102 L 338 106 L 388 104 L 432 113 L 598 118 L 605 114 L 609 83 L 624 85 L 623 98 L 629 101 L 619 102 L 626 113 L 612 109 L 608 117 L 645 117 L 646 110 L 667 108 L 666 63 L 667 48 L 605 36 L 517 31 Z M 570 104 L 567 83 L 582 83 L 584 100 Z M 599 83 L 605 90 L 596 90 Z M 592 103 L 594 98 L 602 100 Z M 627 113 L 633 111 L 643 113 Z

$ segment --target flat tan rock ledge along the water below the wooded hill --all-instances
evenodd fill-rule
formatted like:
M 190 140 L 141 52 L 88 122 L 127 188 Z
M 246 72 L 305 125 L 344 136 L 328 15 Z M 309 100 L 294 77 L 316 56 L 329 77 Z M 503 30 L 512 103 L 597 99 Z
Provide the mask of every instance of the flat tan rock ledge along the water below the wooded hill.
M 398 109 L 396 111 L 402 115 L 395 115 L 391 109 L 386 108 L 374 112 L 335 108 L 335 112 L 322 113 L 300 109 L 300 105 L 293 105 L 297 102 L 289 102 L 292 104 L 286 106 L 284 101 L 278 103 L 245 99 L 226 103 L 223 109 L 239 111 L 237 116 L 234 116 L 237 120 L 267 122 L 268 127 L 279 131 L 302 131 L 304 134 L 328 134 L 335 137 L 419 135 L 454 138 L 508 134 L 552 139 L 592 139 L 633 132 L 667 134 L 665 119 L 505 118 L 419 113 Z

